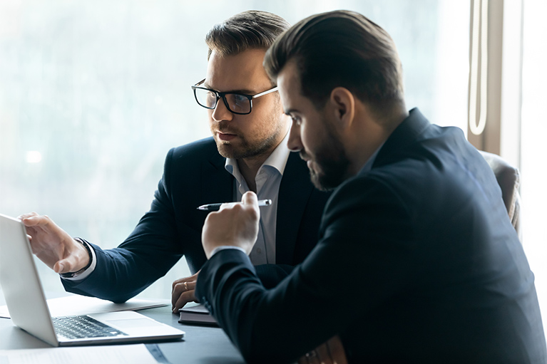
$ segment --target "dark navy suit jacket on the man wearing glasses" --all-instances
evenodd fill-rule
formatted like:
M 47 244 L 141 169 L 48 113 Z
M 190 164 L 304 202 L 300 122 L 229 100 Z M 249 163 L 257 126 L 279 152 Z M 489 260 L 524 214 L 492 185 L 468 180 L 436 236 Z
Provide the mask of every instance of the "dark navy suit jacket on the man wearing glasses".
M 135 296 L 185 256 L 195 273 L 207 261 L 201 229 L 202 204 L 233 201 L 234 177 L 225 170 L 212 137 L 173 148 L 150 207 L 131 235 L 115 249 L 93 245 L 97 266 L 82 281 L 63 280 L 67 291 L 123 302 Z M 258 266 L 266 286 L 274 286 L 317 244 L 319 221 L 329 194 L 310 182 L 305 161 L 291 153 L 277 202 L 276 264 Z

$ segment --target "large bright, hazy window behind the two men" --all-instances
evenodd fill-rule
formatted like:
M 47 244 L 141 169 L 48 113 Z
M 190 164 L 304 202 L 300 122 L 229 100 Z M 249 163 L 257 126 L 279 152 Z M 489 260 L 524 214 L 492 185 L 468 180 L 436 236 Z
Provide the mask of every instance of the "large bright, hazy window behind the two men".
M 407 106 L 466 130 L 469 1 L 1 1 L 0 212 L 48 214 L 111 248 L 148 210 L 170 147 L 208 137 L 190 85 L 203 37 L 247 9 L 294 24 L 352 9 L 384 27 L 402 58 Z M 189 176 L 191 178 L 191 176 Z M 39 264 L 46 291 L 62 291 Z M 181 261 L 140 296 L 170 298 Z

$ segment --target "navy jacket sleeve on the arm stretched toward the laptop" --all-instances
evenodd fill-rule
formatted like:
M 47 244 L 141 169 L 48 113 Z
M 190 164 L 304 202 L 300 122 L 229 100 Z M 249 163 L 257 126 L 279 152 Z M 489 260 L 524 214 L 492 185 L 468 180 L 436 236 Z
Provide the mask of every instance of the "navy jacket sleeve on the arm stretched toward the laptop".
M 125 302 L 150 286 L 183 256 L 170 201 L 170 150 L 150 211 L 120 246 L 103 250 L 93 245 L 96 269 L 83 281 L 63 280 L 66 291 Z

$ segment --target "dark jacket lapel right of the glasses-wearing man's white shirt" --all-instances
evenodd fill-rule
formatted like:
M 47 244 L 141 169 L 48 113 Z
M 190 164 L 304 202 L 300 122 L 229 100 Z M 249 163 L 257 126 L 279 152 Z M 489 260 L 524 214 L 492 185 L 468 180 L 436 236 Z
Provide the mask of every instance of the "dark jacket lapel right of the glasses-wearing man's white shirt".
M 277 201 L 276 264 L 292 264 L 300 221 L 313 189 L 306 162 L 297 153 L 291 153 L 285 165 Z

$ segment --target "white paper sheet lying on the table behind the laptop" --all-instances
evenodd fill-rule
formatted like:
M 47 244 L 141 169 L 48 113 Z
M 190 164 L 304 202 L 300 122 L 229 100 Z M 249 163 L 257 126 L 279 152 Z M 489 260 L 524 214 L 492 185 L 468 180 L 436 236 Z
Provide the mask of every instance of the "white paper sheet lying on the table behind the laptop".
M 87 296 L 66 296 L 48 299 L 51 316 L 86 315 L 88 313 L 103 313 L 115 311 L 135 311 L 142 308 L 153 308 L 170 305 L 170 300 L 145 300 L 131 298 L 126 303 L 112 303 L 111 301 Z M 7 306 L 0 306 L 0 317 L 10 318 Z M 3 364 L 0 361 L 0 364 Z

